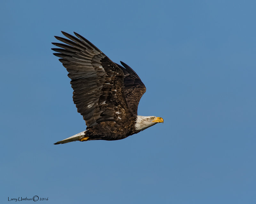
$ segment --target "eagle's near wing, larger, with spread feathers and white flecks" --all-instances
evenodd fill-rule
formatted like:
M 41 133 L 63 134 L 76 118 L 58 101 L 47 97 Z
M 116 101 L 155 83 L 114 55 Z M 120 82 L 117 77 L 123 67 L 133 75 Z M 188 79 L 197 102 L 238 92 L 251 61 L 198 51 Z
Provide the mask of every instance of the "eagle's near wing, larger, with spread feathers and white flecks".
M 60 62 L 67 68 L 74 90 L 73 101 L 88 128 L 103 121 L 126 120 L 131 117 L 124 99 L 124 72 L 91 42 L 75 33 L 76 38 L 62 32 L 68 39 L 57 37 L 66 44 L 52 43 L 61 48 Z

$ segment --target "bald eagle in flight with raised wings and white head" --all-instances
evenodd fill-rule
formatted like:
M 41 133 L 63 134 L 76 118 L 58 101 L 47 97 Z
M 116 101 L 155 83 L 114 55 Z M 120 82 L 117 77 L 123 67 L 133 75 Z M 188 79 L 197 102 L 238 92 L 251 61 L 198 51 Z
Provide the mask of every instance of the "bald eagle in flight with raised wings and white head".
M 124 62 L 112 62 L 91 42 L 75 33 L 62 32 L 65 43 L 52 43 L 60 62 L 68 71 L 73 101 L 85 122 L 86 130 L 54 144 L 88 140 L 121 140 L 164 122 L 156 116 L 137 114 L 146 87 L 140 77 Z

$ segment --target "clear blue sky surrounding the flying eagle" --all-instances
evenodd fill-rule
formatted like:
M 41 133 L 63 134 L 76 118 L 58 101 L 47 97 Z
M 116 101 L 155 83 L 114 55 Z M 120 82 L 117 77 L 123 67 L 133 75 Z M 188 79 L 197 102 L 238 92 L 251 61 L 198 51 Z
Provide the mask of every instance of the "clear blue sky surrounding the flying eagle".
M 2 2 L 0 203 L 256 203 L 255 8 Z M 52 55 L 61 30 L 130 65 L 147 87 L 139 115 L 164 124 L 119 141 L 53 145 L 86 128 Z

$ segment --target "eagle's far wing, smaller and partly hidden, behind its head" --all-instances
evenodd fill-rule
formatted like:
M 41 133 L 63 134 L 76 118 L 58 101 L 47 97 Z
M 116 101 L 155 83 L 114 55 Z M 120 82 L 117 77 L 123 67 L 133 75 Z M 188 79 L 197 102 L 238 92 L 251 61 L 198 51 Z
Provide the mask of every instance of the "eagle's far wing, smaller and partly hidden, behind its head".
M 121 61 L 120 61 L 121 62 Z M 140 77 L 136 72 L 124 62 L 121 62 L 124 66 L 117 64 L 124 72 L 124 94 L 125 100 L 130 111 L 134 115 L 138 115 L 138 105 L 140 98 L 146 92 L 146 87 L 140 80 Z

